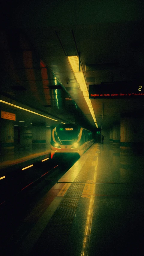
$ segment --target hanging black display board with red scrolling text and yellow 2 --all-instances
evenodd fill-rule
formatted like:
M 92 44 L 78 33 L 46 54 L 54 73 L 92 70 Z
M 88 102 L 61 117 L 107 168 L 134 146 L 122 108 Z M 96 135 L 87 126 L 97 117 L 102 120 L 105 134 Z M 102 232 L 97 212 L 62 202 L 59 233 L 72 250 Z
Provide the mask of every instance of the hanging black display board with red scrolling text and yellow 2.
M 144 86 L 130 83 L 89 85 L 89 99 L 144 98 Z

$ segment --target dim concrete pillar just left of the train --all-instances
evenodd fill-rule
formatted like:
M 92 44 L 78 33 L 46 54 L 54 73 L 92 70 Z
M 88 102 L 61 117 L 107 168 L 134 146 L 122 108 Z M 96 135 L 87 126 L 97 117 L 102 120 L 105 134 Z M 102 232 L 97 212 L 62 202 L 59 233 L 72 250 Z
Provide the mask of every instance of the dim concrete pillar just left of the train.
M 46 148 L 46 125 L 44 122 L 32 123 L 32 147 Z

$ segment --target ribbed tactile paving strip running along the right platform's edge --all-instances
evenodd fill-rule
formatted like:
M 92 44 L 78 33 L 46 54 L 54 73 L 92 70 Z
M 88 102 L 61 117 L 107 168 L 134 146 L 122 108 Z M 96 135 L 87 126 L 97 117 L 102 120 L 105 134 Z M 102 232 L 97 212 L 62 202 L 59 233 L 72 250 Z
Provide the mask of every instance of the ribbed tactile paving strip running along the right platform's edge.
M 87 197 L 91 200 L 91 197 L 95 194 L 95 168 L 97 169 L 98 161 L 98 157 L 95 157 L 95 152 L 97 146 L 98 144 L 94 144 L 73 167 L 70 168 L 67 172 L 68 175 L 65 174 L 58 181 L 58 183 L 61 184 L 60 182 L 63 183 L 67 179 L 67 182 L 49 206 L 51 207 L 53 205 L 54 207 L 52 217 L 49 218 L 50 208 L 48 207 L 49 210 L 46 209 L 43 213 L 40 220 L 35 224 L 31 232 L 20 245 L 16 255 L 22 256 L 28 255 L 29 253 L 29 255 L 32 256 L 54 255 L 54 251 L 59 251 L 59 255 L 62 255 L 64 242 L 69 233 L 80 198 Z M 95 159 L 97 160 L 93 161 Z M 91 165 L 91 163 L 94 164 L 94 162 L 96 167 Z M 87 174 L 91 167 L 94 169 L 94 176 L 93 180 L 89 181 L 87 180 Z M 70 180 L 72 182 L 70 182 Z M 46 213 L 48 214 L 48 218 Z

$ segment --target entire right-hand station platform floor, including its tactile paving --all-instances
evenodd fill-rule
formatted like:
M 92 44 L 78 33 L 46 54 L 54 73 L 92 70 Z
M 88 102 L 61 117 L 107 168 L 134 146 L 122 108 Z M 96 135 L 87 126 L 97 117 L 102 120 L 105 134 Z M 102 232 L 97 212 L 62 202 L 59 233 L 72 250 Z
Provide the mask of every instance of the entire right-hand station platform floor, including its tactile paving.
M 28 213 L 18 255 L 142 255 L 143 159 L 93 144 Z

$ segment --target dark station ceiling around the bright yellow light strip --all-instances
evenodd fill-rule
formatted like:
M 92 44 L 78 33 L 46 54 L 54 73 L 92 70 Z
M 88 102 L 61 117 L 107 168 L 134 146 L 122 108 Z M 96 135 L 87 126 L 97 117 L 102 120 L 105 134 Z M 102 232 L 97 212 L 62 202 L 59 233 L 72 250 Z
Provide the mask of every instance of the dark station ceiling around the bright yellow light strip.
M 95 129 L 67 58 L 78 53 L 88 88 L 131 81 L 144 89 L 143 1 L 6 1 L 1 17 L 1 99 L 59 123 Z M 144 112 L 142 99 L 91 103 L 98 128 L 103 129 L 120 122 L 123 113 Z M 21 112 L 16 111 L 19 119 Z M 57 123 L 47 120 L 47 125 Z

